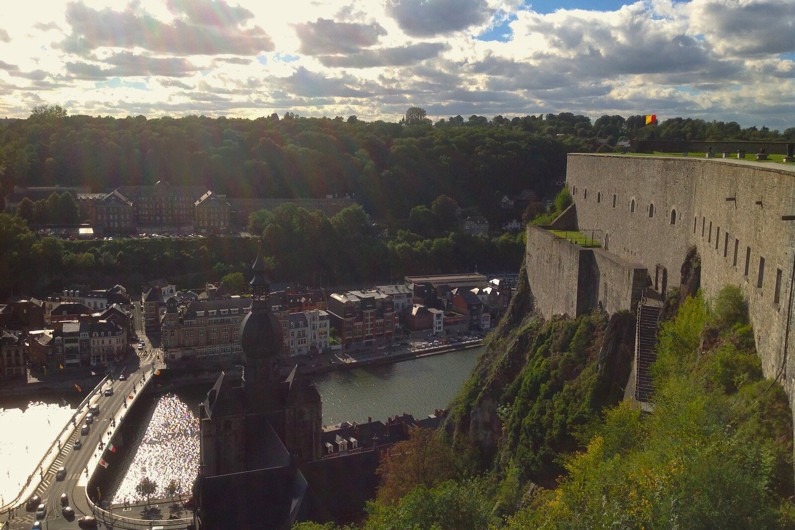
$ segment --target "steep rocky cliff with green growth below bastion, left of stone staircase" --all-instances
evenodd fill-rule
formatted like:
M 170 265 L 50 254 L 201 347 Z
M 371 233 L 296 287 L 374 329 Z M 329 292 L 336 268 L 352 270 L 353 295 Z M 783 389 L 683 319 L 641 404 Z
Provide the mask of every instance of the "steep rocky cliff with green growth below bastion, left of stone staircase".
M 533 311 L 524 268 L 520 278 L 445 428 L 482 455 L 484 466 L 518 462 L 525 478 L 545 482 L 560 473 L 556 456 L 580 447 L 577 432 L 622 398 L 634 316 L 545 321 Z

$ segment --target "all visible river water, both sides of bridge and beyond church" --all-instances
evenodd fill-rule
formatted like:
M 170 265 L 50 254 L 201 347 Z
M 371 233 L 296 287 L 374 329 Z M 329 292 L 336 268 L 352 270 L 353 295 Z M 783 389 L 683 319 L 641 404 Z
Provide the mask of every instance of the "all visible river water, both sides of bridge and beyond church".
M 420 418 L 432 414 L 435 408 L 446 407 L 456 395 L 481 351 L 483 348 L 471 348 L 316 375 L 313 381 L 323 400 L 324 424 L 361 423 L 368 417 L 385 421 L 388 416 L 404 412 Z M 118 474 L 114 474 L 103 497 L 111 496 L 114 502 L 136 500 L 135 486 L 144 476 L 157 483 L 155 497 L 165 496 L 165 488 L 172 481 L 181 493 L 190 491 L 199 468 L 199 404 L 207 390 L 209 385 L 180 389 L 176 395 L 153 395 L 148 403 L 139 403 L 145 410 L 121 448 Z M 25 482 L 72 412 L 74 408 L 63 404 L 0 409 L 4 431 L 13 428 L 11 432 L 37 433 L 36 437 L 0 437 L 0 470 L 9 470 L 8 477 L 0 476 L 0 494 L 17 495 L 17 483 Z M 34 441 L 37 445 L 31 445 Z M 19 472 L 12 474 L 10 470 Z

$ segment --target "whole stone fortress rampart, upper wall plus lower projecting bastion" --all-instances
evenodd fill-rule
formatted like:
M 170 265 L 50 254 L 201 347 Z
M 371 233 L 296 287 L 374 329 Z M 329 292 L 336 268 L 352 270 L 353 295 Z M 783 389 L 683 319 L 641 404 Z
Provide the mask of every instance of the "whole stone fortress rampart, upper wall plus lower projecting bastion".
M 785 343 L 792 350 L 795 168 L 715 158 L 570 154 L 567 186 L 575 209 L 567 222 L 601 230 L 596 234 L 603 250 L 590 252 L 604 266 L 589 266 L 584 273 L 581 247 L 555 242 L 546 230 L 529 226 L 527 273 L 542 315 L 579 315 L 597 304 L 610 312 L 631 309 L 638 287 L 632 277 L 643 268 L 651 287 L 665 294 L 680 284 L 681 265 L 695 246 L 705 294 L 714 296 L 726 284 L 743 288 L 764 373 L 780 374 L 793 397 L 795 364 Z

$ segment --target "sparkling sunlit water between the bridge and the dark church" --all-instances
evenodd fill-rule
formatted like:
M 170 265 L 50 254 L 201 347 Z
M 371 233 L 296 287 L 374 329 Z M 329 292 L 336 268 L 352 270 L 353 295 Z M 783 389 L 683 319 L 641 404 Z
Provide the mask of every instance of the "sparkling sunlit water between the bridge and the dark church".
M 199 471 L 199 420 L 179 397 L 168 394 L 157 400 L 152 419 L 134 452 L 113 502 L 143 500 L 135 486 L 144 477 L 157 484 L 153 497 L 166 497 L 172 480 L 180 493 L 188 493 Z

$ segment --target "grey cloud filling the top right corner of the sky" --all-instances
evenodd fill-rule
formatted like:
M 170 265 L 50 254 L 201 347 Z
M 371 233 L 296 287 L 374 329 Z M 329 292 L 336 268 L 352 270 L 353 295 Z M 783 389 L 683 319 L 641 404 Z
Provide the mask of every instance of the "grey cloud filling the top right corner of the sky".
M 739 56 L 795 51 L 795 2 L 693 2 L 694 25 L 720 51 Z

